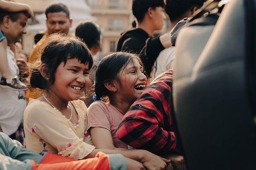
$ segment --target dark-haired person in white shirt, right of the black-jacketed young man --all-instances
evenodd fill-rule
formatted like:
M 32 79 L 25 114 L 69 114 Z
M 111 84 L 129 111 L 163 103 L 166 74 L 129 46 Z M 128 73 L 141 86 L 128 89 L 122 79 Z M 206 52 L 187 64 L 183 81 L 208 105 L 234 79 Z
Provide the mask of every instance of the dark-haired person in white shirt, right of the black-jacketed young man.
M 174 26 L 185 18 L 193 16 L 194 12 L 198 10 L 206 0 L 166 0 L 165 12 L 169 16 L 173 29 Z M 181 27 L 178 27 L 179 29 Z M 174 30 L 172 30 L 174 31 Z M 175 30 L 176 32 L 177 30 Z M 172 47 L 166 48 L 158 55 L 153 69 L 150 73 L 150 82 L 159 74 L 170 70 L 174 66 L 175 61 L 175 44 L 172 42 Z

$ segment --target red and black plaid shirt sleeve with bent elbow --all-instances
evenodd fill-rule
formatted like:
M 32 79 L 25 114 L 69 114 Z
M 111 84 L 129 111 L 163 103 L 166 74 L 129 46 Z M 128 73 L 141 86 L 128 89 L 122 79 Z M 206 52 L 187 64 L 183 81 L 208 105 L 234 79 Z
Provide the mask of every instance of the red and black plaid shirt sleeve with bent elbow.
M 117 135 L 121 141 L 152 152 L 175 149 L 176 137 L 171 130 L 169 108 L 171 86 L 172 70 L 168 70 L 144 90 L 119 125 Z

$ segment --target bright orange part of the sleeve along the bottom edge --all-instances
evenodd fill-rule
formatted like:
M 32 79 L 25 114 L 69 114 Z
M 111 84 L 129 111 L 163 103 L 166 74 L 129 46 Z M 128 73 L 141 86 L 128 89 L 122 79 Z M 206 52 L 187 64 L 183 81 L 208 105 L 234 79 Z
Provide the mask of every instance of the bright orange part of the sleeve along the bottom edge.
M 74 160 L 71 162 L 68 158 L 67 161 L 69 162 L 53 163 L 55 159 L 56 161 L 60 161 L 62 159 L 58 156 L 59 155 L 49 155 L 48 158 L 45 158 L 43 164 L 41 164 L 42 161 L 40 162 L 40 164 L 36 164 L 32 160 L 32 170 L 110 170 L 108 156 L 103 152 L 98 152 L 94 158 Z M 49 160 L 49 158 L 54 160 Z M 46 163 L 46 160 L 52 163 Z

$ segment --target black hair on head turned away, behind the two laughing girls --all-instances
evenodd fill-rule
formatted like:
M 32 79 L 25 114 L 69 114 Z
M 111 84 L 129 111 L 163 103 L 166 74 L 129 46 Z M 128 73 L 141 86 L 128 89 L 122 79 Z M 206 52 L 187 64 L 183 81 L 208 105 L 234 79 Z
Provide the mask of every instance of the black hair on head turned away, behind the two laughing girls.
M 100 26 L 94 21 L 82 21 L 76 27 L 75 35 L 81 38 L 89 49 L 92 47 L 100 48 Z

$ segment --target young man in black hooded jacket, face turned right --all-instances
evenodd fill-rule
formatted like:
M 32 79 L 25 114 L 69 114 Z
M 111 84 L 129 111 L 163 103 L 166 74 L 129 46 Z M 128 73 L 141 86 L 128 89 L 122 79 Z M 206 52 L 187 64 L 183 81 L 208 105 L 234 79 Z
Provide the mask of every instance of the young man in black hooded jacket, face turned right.
M 160 51 L 170 47 L 169 34 L 152 38 L 153 32 L 162 29 L 164 23 L 164 0 L 133 0 L 132 13 L 137 27 L 121 34 L 117 51 L 140 55 L 149 75 Z

